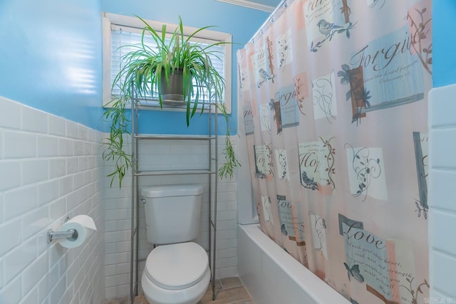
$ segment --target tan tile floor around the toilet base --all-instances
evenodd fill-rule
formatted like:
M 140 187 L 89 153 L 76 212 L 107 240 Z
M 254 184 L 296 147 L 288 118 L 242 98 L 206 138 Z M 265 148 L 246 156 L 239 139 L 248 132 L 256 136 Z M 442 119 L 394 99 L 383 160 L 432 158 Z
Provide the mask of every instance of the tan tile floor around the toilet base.
M 212 286 L 197 304 L 254 304 L 249 293 L 238 277 L 222 278 L 215 281 L 215 300 L 212 300 Z M 128 300 L 110 300 L 105 304 L 128 304 Z M 134 304 L 149 304 L 144 295 L 138 295 Z

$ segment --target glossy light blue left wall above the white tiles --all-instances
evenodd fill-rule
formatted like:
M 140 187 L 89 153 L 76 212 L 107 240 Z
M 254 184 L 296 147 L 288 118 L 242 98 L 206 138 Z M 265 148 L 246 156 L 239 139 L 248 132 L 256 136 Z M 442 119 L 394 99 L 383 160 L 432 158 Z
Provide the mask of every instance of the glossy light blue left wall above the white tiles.
M 99 0 L 0 0 L 0 95 L 100 129 L 100 14 Z

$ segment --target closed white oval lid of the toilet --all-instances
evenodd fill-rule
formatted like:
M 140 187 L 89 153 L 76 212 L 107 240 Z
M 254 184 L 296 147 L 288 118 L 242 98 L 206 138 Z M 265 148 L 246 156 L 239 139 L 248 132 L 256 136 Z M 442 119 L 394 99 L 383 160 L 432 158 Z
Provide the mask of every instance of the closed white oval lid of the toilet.
M 157 246 L 147 256 L 147 278 L 165 289 L 183 289 L 201 280 L 209 266 L 206 251 L 197 243 Z

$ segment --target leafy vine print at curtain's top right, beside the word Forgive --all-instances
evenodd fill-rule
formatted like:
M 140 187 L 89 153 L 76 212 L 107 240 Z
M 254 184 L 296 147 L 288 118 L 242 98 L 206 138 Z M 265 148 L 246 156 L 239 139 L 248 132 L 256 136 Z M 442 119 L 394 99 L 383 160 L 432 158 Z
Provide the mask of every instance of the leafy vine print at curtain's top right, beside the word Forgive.
M 405 17 L 405 19 L 410 21 L 410 43 L 413 50 L 418 54 L 421 64 L 427 73 L 430 73 L 432 75 L 432 70 L 430 68 L 430 65 L 432 65 L 432 42 L 428 43 L 426 46 L 423 46 L 424 40 L 427 38 L 427 36 L 430 35 L 431 30 L 429 23 L 432 21 L 432 18 L 427 20 L 424 19 L 423 15 L 427 11 L 426 8 L 422 9 L 421 11 L 415 9 L 415 11 L 417 11 L 420 15 L 418 21 L 413 20 L 410 13 L 408 13 Z

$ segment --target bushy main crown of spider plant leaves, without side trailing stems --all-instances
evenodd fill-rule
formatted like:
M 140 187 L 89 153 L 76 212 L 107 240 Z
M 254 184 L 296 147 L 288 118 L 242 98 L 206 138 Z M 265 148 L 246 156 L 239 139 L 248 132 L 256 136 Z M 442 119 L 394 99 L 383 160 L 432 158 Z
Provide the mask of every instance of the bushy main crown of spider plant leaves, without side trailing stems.
M 162 90 L 170 85 L 170 75 L 180 71 L 182 73 L 183 100 L 187 105 L 187 125 L 195 115 L 199 103 L 205 103 L 204 90 L 210 88 L 217 100 L 222 100 L 224 78 L 212 65 L 211 56 L 218 58 L 213 46 L 225 44 L 219 41 L 209 45 L 192 43 L 197 33 L 212 26 L 198 28 L 189 36 L 184 34 L 182 19 L 179 17 L 179 26 L 168 37 L 167 26 L 163 24 L 162 31 L 155 31 L 147 21 L 137 16 L 144 24 L 141 43 L 123 47 L 131 51 L 123 56 L 123 68 L 115 76 L 113 83 L 120 87 L 125 96 L 137 95 L 139 98 L 153 98 L 157 92 L 160 107 L 162 107 Z M 145 42 L 147 36 L 152 37 L 154 46 Z M 165 81 L 165 83 L 162 83 Z M 195 84 L 194 84 L 195 83 Z M 192 100 L 193 99 L 193 100 Z

